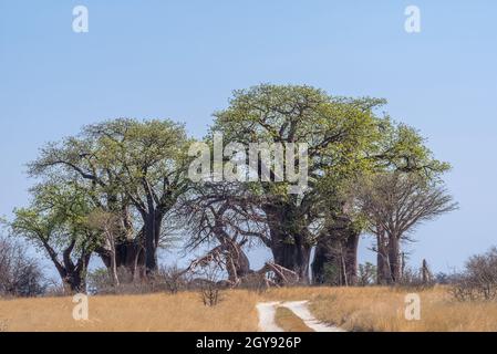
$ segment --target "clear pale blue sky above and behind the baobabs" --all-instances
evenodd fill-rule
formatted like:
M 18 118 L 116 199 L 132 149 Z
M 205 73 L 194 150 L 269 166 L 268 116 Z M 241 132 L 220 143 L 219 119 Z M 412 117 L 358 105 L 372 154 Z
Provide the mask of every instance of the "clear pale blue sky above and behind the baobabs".
M 77 4 L 89 33 L 72 31 Z M 404 30 L 410 4 L 421 33 Z M 38 148 L 84 124 L 169 117 L 199 137 L 235 88 L 310 84 L 386 98 L 454 166 L 460 210 L 410 249 L 416 264 L 460 267 L 497 244 L 496 18 L 495 0 L 0 0 L 0 215 L 27 202 Z

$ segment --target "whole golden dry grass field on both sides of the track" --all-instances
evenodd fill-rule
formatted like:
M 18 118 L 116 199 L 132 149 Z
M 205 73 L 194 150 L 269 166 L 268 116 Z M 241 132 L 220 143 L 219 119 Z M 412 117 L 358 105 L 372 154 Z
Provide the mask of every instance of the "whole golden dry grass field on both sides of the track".
M 420 291 L 421 321 L 407 321 L 404 296 L 410 292 L 415 291 L 288 288 L 257 294 L 230 290 L 215 308 L 206 308 L 194 292 L 92 296 L 90 319 L 82 322 L 72 317 L 72 298 L 0 300 L 0 331 L 255 332 L 258 302 L 297 300 L 310 300 L 318 319 L 346 331 L 497 331 L 497 303 L 459 303 L 445 288 Z M 286 330 L 302 330 L 287 312 L 277 317 Z

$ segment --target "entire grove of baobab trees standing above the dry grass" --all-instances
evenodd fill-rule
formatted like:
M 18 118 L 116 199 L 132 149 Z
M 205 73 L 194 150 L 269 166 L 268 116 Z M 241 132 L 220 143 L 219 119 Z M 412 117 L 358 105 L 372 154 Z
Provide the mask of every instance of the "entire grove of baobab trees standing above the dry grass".
M 402 241 L 456 205 L 442 181 L 448 164 L 414 128 L 379 114 L 384 104 L 265 84 L 235 92 L 214 114 L 209 146 L 215 133 L 242 146 L 307 143 L 309 187 L 299 195 L 277 181 L 276 164 L 250 171 L 269 168 L 270 180 L 193 181 L 195 140 L 169 119 L 85 126 L 29 164 L 38 185 L 31 205 L 14 210 L 11 230 L 45 252 L 69 291 L 85 290 L 94 256 L 115 285 L 118 268 L 134 279 L 153 277 L 157 250 L 178 235 L 188 250 L 208 244 L 193 266 L 218 262 L 231 284 L 255 273 L 246 251 L 259 244 L 272 252 L 280 280 L 289 271 L 301 282 L 329 282 L 331 269 L 333 283 L 353 285 L 360 237 L 369 232 L 376 237 L 379 282 L 398 282 Z

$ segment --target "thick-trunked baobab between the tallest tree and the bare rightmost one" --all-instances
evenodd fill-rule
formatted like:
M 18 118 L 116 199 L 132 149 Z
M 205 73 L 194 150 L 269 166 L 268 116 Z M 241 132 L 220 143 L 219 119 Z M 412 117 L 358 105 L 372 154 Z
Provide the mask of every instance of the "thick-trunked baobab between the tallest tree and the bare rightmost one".
M 424 145 L 423 137 L 414 128 L 396 124 L 389 117 L 377 122 L 370 139 L 363 146 L 351 147 L 352 154 L 328 168 L 319 188 L 320 199 L 315 204 L 320 212 L 322 229 L 317 240 L 312 263 L 313 281 L 324 281 L 324 269 L 331 267 L 340 275 L 334 283 L 355 284 L 358 274 L 358 247 L 364 220 L 354 208 L 354 194 L 360 184 L 358 176 L 375 176 L 386 171 L 423 174 L 426 180 L 438 180 L 449 165 L 433 157 Z M 355 154 L 353 153 L 355 152 Z M 383 239 L 380 232 L 379 239 Z M 383 242 L 377 242 L 382 248 Z M 381 253 L 379 253 L 380 257 Z M 381 264 L 381 262 L 379 262 Z

